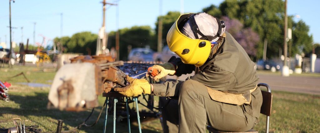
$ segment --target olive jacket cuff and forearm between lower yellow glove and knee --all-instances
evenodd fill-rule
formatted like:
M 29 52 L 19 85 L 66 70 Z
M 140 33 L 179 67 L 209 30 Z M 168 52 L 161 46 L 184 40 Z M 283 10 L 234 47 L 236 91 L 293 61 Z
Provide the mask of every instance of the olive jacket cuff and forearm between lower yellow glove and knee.
M 179 95 L 179 88 L 183 81 L 166 81 L 162 84 L 152 84 L 153 94 L 161 97 L 174 97 Z

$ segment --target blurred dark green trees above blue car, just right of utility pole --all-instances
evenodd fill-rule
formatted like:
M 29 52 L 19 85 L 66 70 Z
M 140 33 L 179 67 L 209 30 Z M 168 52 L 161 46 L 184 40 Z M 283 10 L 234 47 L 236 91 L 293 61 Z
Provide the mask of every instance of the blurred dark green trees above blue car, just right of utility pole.
M 144 48 L 149 46 L 156 50 L 157 44 L 155 33 L 150 26 L 133 26 L 131 28 L 119 29 L 120 60 L 126 60 L 128 57 L 128 47 Z M 116 32 L 109 33 L 108 48 L 116 46 Z

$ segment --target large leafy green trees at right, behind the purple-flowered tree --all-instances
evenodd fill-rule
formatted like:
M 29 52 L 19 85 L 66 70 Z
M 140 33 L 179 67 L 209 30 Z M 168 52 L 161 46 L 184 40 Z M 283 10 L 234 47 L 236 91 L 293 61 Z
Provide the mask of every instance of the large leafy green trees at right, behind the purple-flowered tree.
M 267 57 L 278 55 L 279 48 L 284 45 L 284 2 L 282 0 L 225 0 L 219 6 L 211 5 L 203 11 L 221 18 L 227 16 L 238 19 L 244 27 L 250 27 L 260 36 L 257 45 L 257 58 L 263 54 L 264 39 L 268 40 Z M 221 15 L 220 15 L 221 14 Z M 292 53 L 308 53 L 312 49 L 312 36 L 308 35 L 309 27 L 300 20 L 294 22 L 288 16 L 288 28 L 292 28 Z

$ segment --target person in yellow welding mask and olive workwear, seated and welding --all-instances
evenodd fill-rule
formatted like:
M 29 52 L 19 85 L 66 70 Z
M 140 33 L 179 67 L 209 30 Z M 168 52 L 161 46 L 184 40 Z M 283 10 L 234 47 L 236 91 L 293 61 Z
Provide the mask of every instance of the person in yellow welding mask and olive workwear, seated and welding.
M 127 76 L 130 85 L 116 91 L 128 97 L 160 96 L 164 133 L 203 133 L 206 125 L 234 132 L 252 129 L 262 104 L 259 77 L 247 53 L 225 29 L 223 21 L 206 13 L 181 15 L 167 34 L 170 50 L 180 58 L 152 66 L 158 74 L 146 76 L 156 80 L 193 71 L 195 75 L 163 84 Z

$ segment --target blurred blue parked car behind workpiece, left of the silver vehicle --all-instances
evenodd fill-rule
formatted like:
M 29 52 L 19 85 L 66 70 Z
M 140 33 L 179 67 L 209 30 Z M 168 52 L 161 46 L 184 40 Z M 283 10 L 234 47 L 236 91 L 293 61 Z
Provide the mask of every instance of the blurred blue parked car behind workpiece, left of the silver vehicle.
M 154 53 L 150 48 L 133 48 L 128 55 L 128 60 L 152 62 Z

